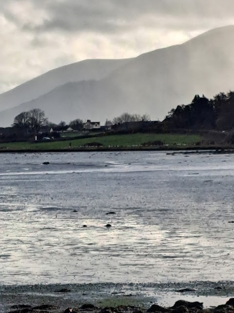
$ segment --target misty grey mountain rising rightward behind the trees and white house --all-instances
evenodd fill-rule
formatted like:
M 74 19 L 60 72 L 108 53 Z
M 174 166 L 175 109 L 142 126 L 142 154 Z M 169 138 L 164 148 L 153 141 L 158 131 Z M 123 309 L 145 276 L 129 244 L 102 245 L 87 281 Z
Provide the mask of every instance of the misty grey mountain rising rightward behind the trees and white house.
M 157 49 L 133 59 L 117 60 L 115 65 L 113 60 L 109 61 L 109 65 L 107 60 L 99 60 L 108 68 L 102 75 L 98 72 L 101 66 L 95 67 L 96 75 L 80 75 L 76 80 L 67 79 L 69 74 L 67 77 L 61 74 L 57 86 L 52 89 L 48 85 L 50 90 L 44 94 L 41 92 L 45 87 L 41 88 L 42 84 L 37 83 L 39 78 L 36 78 L 26 85 L 33 82 L 37 89 L 39 84 L 41 95 L 33 97 L 30 90 L 30 96 L 34 99 L 1 112 L 0 125 L 9 125 L 18 113 L 32 108 L 43 109 L 49 119 L 55 122 L 74 118 L 103 122 L 126 111 L 146 112 L 153 119 L 162 119 L 178 104 L 191 102 L 197 93 L 212 97 L 219 91 L 234 88 L 233 38 L 234 26 L 225 26 L 182 45 Z M 95 61 L 84 61 L 83 64 L 95 64 Z M 80 67 L 80 63 L 76 66 Z M 74 67 L 70 65 L 68 72 Z M 84 65 L 82 72 L 85 72 Z M 50 81 L 49 75 L 51 72 L 42 75 L 43 79 Z M 25 84 L 17 90 L 24 87 Z M 14 90 L 9 92 L 14 95 Z M 5 103 L 8 105 L 6 95 Z

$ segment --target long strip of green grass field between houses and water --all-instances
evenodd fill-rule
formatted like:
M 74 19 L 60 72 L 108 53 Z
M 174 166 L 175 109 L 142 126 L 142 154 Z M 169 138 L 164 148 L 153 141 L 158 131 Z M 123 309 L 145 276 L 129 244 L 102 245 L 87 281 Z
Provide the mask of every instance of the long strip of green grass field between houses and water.
M 92 137 L 86 139 L 75 139 L 67 141 L 52 141 L 52 142 L 13 142 L 0 144 L 0 150 L 58 150 L 70 148 L 76 149 L 82 147 L 86 143 L 98 142 L 103 147 L 137 147 L 148 141 L 160 140 L 165 145 L 194 145 L 202 138 L 199 135 L 184 135 L 184 134 L 121 134 L 107 135 L 101 137 Z

